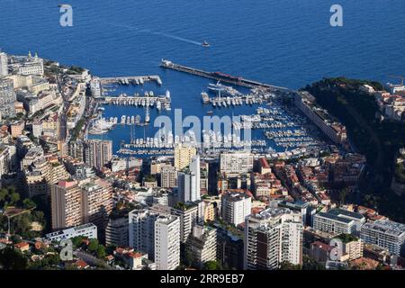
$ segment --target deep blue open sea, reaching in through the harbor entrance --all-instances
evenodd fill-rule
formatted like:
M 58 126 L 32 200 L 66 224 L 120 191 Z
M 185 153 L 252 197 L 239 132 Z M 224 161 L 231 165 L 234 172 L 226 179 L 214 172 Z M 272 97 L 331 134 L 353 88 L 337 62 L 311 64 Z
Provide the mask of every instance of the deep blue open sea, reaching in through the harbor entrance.
M 38 51 L 97 76 L 160 75 L 163 86 L 153 89 L 169 89 L 172 108 L 182 107 L 184 115 L 210 110 L 200 101 L 209 81 L 163 70 L 161 58 L 291 88 L 327 76 L 397 81 L 388 75 L 405 74 L 405 2 L 339 0 L 344 26 L 331 27 L 329 8 L 336 2 L 66 0 L 73 27 L 61 27 L 62 3 L 2 0 L 0 47 L 12 54 Z M 203 49 L 202 40 L 211 47 Z M 106 137 L 116 139 L 117 148 L 118 139 L 129 138 L 122 135 L 114 130 Z

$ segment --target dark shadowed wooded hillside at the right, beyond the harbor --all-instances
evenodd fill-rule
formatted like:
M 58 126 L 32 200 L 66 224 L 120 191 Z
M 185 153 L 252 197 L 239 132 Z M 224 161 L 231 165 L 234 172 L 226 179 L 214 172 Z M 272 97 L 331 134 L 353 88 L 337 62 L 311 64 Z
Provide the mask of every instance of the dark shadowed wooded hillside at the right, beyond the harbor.
M 405 123 L 378 120 L 374 95 L 359 90 L 365 84 L 383 89 L 376 82 L 338 77 L 307 85 L 304 90 L 346 125 L 349 139 L 367 158 L 368 169 L 359 184 L 362 199 L 353 202 L 377 209 L 392 220 L 405 221 L 405 197 L 390 189 L 395 155 L 399 148 L 405 147 Z M 347 198 L 347 195 L 340 196 Z

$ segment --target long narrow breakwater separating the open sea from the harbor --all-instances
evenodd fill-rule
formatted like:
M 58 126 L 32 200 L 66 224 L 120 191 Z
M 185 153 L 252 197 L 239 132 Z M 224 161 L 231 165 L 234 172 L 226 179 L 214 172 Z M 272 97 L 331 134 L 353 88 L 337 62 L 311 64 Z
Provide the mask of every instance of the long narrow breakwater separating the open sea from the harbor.
M 208 72 L 208 71 L 204 71 L 204 70 L 193 68 L 193 67 L 187 67 L 184 65 L 175 64 L 172 61 L 166 60 L 166 59 L 162 59 L 162 61 L 160 63 L 160 67 L 192 74 L 195 76 L 202 76 L 205 78 L 214 79 L 217 81 L 221 81 L 221 82 L 225 82 L 225 83 L 229 83 L 229 84 L 233 84 L 233 85 L 244 86 L 244 87 L 248 87 L 248 88 L 269 88 L 269 89 L 278 90 L 278 91 L 281 91 L 284 93 L 295 93 L 294 90 L 286 88 L 286 87 L 269 85 L 266 83 L 261 83 L 261 82 L 257 82 L 254 80 L 245 79 L 245 78 L 239 77 L 239 76 L 230 76 L 230 75 L 227 75 L 227 74 L 224 74 L 221 72 Z

